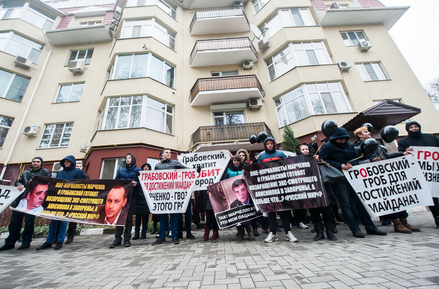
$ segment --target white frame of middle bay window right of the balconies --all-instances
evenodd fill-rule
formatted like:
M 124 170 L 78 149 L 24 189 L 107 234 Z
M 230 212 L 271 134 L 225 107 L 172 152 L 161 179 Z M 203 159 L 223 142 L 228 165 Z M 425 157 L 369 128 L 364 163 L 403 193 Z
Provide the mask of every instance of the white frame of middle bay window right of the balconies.
M 313 43 L 317 43 L 317 42 L 320 42 L 322 48 L 315 48 L 315 47 L 314 47 L 314 44 L 313 44 Z M 302 47 L 303 47 L 303 43 L 311 43 L 311 45 L 313 46 L 313 49 L 304 49 L 304 48 L 302 48 L 302 49 L 295 49 L 295 48 L 294 48 L 294 44 L 299 44 L 299 43 L 302 45 Z M 280 60 L 277 60 L 277 61 L 275 62 L 274 59 L 273 59 L 274 55 L 277 55 L 277 53 L 279 53 L 279 52 L 281 52 L 281 51 L 284 51 L 284 50 L 287 49 L 287 48 L 290 49 L 290 52 L 287 53 L 285 56 L 283 56 Z M 297 65 L 297 64 L 298 64 L 298 57 L 297 57 L 295 51 L 299 51 L 299 50 L 303 50 L 303 51 L 304 51 L 304 55 L 305 55 L 305 58 L 306 58 L 306 61 L 307 61 L 307 65 Z M 308 57 L 308 55 L 306 55 L 306 53 L 305 53 L 306 50 L 313 50 L 314 55 L 316 56 L 316 59 L 317 59 L 317 61 L 319 62 L 318 64 L 309 64 L 309 63 L 310 63 L 310 62 L 309 62 L 309 57 Z M 316 50 L 324 50 L 324 55 L 325 55 L 326 58 L 327 58 L 327 63 L 321 63 L 321 64 L 320 64 L 320 61 L 319 61 L 319 59 L 318 59 L 318 54 L 316 53 Z M 288 56 L 288 54 L 290 54 L 290 55 Z M 291 67 L 291 69 L 285 71 L 285 72 L 282 73 L 282 74 L 279 74 L 279 72 L 277 71 L 277 67 L 276 67 L 275 63 L 279 63 L 284 57 L 287 57 L 287 59 L 288 59 L 288 57 L 289 57 L 289 61 L 292 61 L 293 66 Z M 267 61 L 269 61 L 269 60 L 271 60 L 271 63 L 267 65 Z M 268 78 L 269 78 L 269 80 L 270 80 L 270 82 L 271 82 L 271 81 L 274 81 L 274 80 L 276 80 L 277 78 L 281 77 L 282 75 L 286 74 L 288 71 L 294 69 L 295 67 L 298 67 L 298 66 L 310 66 L 310 65 L 327 65 L 327 64 L 332 64 L 332 61 L 331 61 L 331 57 L 329 56 L 329 53 L 327 52 L 327 49 L 326 49 L 325 43 L 324 43 L 323 41 L 306 41 L 306 42 L 289 42 L 286 46 L 282 47 L 281 49 L 279 49 L 279 51 L 277 51 L 276 53 L 274 53 L 273 56 L 270 56 L 270 57 L 265 61 L 265 64 L 266 64 L 266 67 L 267 67 Z M 273 79 L 270 78 L 270 67 L 273 67 L 273 68 L 274 68 L 275 78 L 273 78 Z

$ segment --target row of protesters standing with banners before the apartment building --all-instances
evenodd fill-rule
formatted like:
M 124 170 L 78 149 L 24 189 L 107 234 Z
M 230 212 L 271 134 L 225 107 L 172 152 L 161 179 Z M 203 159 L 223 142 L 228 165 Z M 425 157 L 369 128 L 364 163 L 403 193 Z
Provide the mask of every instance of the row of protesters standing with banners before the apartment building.
M 388 153 L 384 146 L 379 146 L 376 152 L 363 155 L 361 153 L 361 144 L 367 138 L 371 137 L 371 132 L 367 127 L 360 127 L 355 130 L 354 135 L 356 140 L 351 143 L 351 138 L 348 132 L 338 127 L 337 130 L 329 141 L 324 143 L 320 148 L 317 143 L 301 143 L 296 146 L 295 153 L 297 155 L 313 155 L 316 162 L 327 162 L 329 165 L 341 170 L 348 170 L 352 166 L 363 164 L 367 162 L 377 162 L 383 159 L 392 159 L 403 155 L 412 154 L 413 149 L 411 146 L 427 146 L 427 147 L 439 147 L 439 139 L 433 134 L 421 133 L 421 125 L 415 121 L 406 123 L 406 130 L 408 135 L 398 141 L 398 152 Z M 243 174 L 245 165 L 256 162 L 267 162 L 277 159 L 286 158 L 286 155 L 277 150 L 276 141 L 272 137 L 267 137 L 263 141 L 264 151 L 261 153 L 254 153 L 252 160 L 250 155 L 245 149 L 237 151 L 236 155 L 230 155 L 230 162 L 225 169 L 225 172 L 221 176 L 220 180 L 226 180 L 234 176 Z M 180 154 L 186 152 L 180 152 Z M 171 159 L 171 150 L 164 148 L 159 155 L 159 162 L 155 165 L 154 170 L 162 169 L 187 169 L 186 166 L 180 162 Z M 148 163 L 144 163 L 141 167 L 137 167 L 136 157 L 128 153 L 125 157 L 125 167 L 119 169 L 115 179 L 132 180 L 133 190 L 131 193 L 130 204 L 128 206 L 128 213 L 125 221 L 125 226 L 116 226 L 116 234 L 114 242 L 109 246 L 110 248 L 118 247 L 122 245 L 123 234 L 123 246 L 131 246 L 131 231 L 133 227 L 133 215 L 135 215 L 134 236 L 132 240 L 146 239 L 150 210 L 148 203 L 140 187 L 139 175 L 142 170 L 151 170 L 152 167 Z M 89 179 L 89 176 L 84 173 L 82 163 L 76 162 L 76 159 L 72 155 L 66 156 L 61 160 L 60 170 L 56 178 L 68 179 L 68 180 L 82 180 Z M 25 188 L 32 181 L 33 176 L 47 176 L 51 177 L 49 170 L 44 169 L 43 159 L 35 157 L 32 159 L 32 166 L 26 169 L 15 182 L 15 186 L 19 191 L 25 190 Z M 197 169 L 200 172 L 200 167 Z M 240 183 L 234 183 L 235 187 L 239 187 Z M 34 233 L 34 221 L 35 215 L 28 214 L 26 212 L 34 212 L 39 208 L 39 205 L 43 202 L 43 199 L 47 193 L 47 183 L 39 183 L 32 192 L 28 192 L 26 196 L 18 197 L 12 207 L 16 208 L 22 206 L 25 212 L 12 211 L 11 222 L 8 226 L 9 236 L 6 238 L 3 247 L 0 250 L 8 250 L 15 247 L 15 243 L 21 240 L 21 246 L 18 250 L 27 249 L 30 247 L 32 241 L 32 235 Z M 345 225 L 349 227 L 353 236 L 357 238 L 364 238 L 365 235 L 360 229 L 360 225 L 363 225 L 365 231 L 369 235 L 384 236 L 387 232 L 378 229 L 372 222 L 370 215 L 367 213 L 365 207 L 361 203 L 359 197 L 345 178 L 334 183 L 332 185 L 325 185 L 325 191 L 327 199 L 329 201 L 328 206 L 321 208 L 309 208 L 309 214 L 311 222 L 313 223 L 313 233 L 316 233 L 314 240 L 322 240 L 326 238 L 331 241 L 337 240 L 334 235 L 338 233 L 337 225 L 340 222 L 345 222 Z M 203 241 L 217 240 L 219 239 L 219 226 L 216 222 L 215 214 L 212 208 L 212 204 L 209 198 L 209 191 L 198 191 L 198 207 L 203 208 L 206 216 L 206 223 L 204 229 Z M 20 200 L 24 200 L 20 202 Z M 237 199 L 242 204 L 251 204 L 251 199 Z M 187 206 L 185 213 L 172 213 L 172 214 L 152 214 L 153 231 L 151 235 L 157 233 L 157 224 L 160 223 L 158 229 L 158 236 L 152 245 L 158 245 L 166 242 L 166 236 L 172 237 L 172 243 L 180 243 L 183 238 L 183 216 L 186 227 L 186 238 L 189 240 L 195 237 L 191 233 L 191 219 L 192 208 L 194 201 L 194 194 L 191 197 L 191 201 Z M 433 219 L 436 227 L 439 228 L 439 204 L 438 198 L 433 197 L 434 205 L 430 206 Z M 29 205 L 28 205 L 29 204 Z M 30 204 L 34 204 L 33 209 L 29 209 Z M 338 213 L 338 205 L 340 206 L 342 217 Z M 271 212 L 264 213 L 263 216 L 252 220 L 251 222 L 245 222 L 236 226 L 237 241 L 241 242 L 245 239 L 245 234 L 248 240 L 255 240 L 255 236 L 259 236 L 258 227 L 261 227 L 262 233 L 268 234 L 265 242 L 272 243 L 278 241 L 278 232 L 281 231 L 277 225 L 277 216 L 281 219 L 281 228 L 284 230 L 284 239 L 289 242 L 297 242 L 297 238 L 292 233 L 292 225 L 297 226 L 300 229 L 308 229 L 306 217 L 306 209 L 299 209 L 293 211 L 283 211 L 281 208 L 276 207 L 276 203 L 271 204 Z M 32 211 L 34 210 L 34 211 Z M 293 215 L 291 214 L 293 213 Z M 394 231 L 398 233 L 412 233 L 420 232 L 421 229 L 412 226 L 408 223 L 409 217 L 407 211 L 398 211 L 389 215 L 382 216 L 382 225 L 388 225 L 390 223 L 394 226 Z M 24 219 L 24 229 L 22 229 L 22 223 Z M 115 225 L 116 220 L 105 219 L 105 224 Z M 267 226 L 268 223 L 268 226 Z M 55 244 L 55 250 L 62 248 L 67 235 L 67 241 L 65 243 L 72 243 L 76 233 L 76 222 L 70 222 L 69 226 L 66 221 L 54 220 L 50 221 L 49 233 L 46 241 L 36 250 L 43 250 L 52 247 Z M 67 229 L 68 228 L 68 229 Z M 140 230 L 141 229 L 141 230 Z M 169 230 L 170 229 L 170 230 Z M 213 232 L 210 236 L 210 232 Z

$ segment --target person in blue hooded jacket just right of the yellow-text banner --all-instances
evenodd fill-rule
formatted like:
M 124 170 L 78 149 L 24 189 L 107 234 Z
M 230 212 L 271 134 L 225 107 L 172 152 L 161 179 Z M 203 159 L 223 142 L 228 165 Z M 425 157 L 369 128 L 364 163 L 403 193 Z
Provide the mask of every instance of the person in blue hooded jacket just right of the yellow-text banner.
M 136 206 L 137 194 L 142 192 L 142 187 L 140 186 L 139 176 L 142 169 L 138 168 L 136 165 L 136 157 L 133 154 L 126 154 L 125 156 L 126 165 L 124 168 L 119 169 L 116 174 L 115 180 L 133 180 L 133 190 L 131 191 L 130 205 L 128 206 L 128 212 L 126 213 L 125 221 L 125 231 L 123 226 L 116 226 L 116 233 L 114 235 L 114 241 L 110 245 L 110 248 L 118 247 L 122 244 L 122 233 L 123 233 L 123 247 L 131 246 L 131 229 L 133 229 L 133 212 Z

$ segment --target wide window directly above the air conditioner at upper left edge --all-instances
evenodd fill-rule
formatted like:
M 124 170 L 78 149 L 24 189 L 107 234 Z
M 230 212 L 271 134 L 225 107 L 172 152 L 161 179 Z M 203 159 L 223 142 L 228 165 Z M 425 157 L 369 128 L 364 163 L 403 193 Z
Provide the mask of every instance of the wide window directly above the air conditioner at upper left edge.
M 27 39 L 12 31 L 0 33 L 0 51 L 14 56 L 22 56 L 38 63 L 44 45 Z

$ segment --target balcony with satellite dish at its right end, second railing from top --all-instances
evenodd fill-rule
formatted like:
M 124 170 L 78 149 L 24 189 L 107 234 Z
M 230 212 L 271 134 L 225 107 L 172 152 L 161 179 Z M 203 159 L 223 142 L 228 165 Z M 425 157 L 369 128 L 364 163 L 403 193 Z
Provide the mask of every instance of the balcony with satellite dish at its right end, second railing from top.
M 258 61 L 258 53 L 248 37 L 201 39 L 192 49 L 191 67 L 238 64 Z

